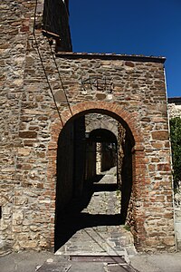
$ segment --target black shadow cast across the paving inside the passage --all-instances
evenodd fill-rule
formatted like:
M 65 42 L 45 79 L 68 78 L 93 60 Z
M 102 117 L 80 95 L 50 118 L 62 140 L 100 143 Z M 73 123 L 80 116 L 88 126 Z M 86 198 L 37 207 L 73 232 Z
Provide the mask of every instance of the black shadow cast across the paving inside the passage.
M 89 205 L 94 192 L 116 191 L 118 189 L 117 184 L 99 184 L 102 177 L 102 175 L 96 177 L 95 183 L 84 189 L 81 198 L 72 199 L 68 207 L 58 215 L 55 229 L 55 251 L 80 229 L 120 225 L 120 214 L 104 215 L 82 212 Z

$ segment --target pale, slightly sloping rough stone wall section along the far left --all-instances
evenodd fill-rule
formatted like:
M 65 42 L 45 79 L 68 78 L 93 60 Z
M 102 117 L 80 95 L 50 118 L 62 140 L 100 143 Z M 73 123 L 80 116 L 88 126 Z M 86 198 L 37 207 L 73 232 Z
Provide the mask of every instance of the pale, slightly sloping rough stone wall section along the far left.
M 20 207 L 27 206 L 29 197 L 23 194 L 20 198 L 16 187 L 20 183 L 17 174 L 19 163 L 17 157 L 22 157 L 23 160 L 23 157 L 27 157 L 30 152 L 30 148 L 24 150 L 18 134 L 24 95 L 25 55 L 28 47 L 30 20 L 33 15 L 32 7 L 33 5 L 26 1 L 1 1 L 0 4 L 0 205 L 2 206 L 0 237 L 2 244 L 5 242 L 11 245 L 14 243 L 14 232 L 20 232 L 18 228 L 24 218 L 24 209 L 20 209 Z M 30 133 L 30 138 L 31 135 L 33 137 L 33 131 L 32 134 Z M 27 139 L 27 141 L 31 141 L 31 139 Z M 35 242 L 31 246 L 35 246 Z

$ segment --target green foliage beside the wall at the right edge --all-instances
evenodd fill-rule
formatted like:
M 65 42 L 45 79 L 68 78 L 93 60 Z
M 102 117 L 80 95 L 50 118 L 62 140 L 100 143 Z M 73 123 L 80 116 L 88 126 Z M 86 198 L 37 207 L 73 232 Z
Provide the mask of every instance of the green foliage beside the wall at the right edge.
M 170 120 L 170 140 L 172 147 L 174 189 L 181 181 L 181 118 L 175 117 Z

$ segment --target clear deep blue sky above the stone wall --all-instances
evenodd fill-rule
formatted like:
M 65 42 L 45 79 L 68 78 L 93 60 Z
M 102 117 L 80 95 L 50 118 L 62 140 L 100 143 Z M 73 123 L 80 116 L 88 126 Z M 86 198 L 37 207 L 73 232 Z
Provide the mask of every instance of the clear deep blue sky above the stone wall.
M 181 0 L 70 0 L 70 24 L 74 52 L 165 56 L 181 96 Z

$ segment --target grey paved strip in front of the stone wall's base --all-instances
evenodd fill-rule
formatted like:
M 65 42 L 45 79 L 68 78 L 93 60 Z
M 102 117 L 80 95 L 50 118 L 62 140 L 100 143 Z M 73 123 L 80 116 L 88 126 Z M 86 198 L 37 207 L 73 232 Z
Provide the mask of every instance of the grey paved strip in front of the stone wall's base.
M 69 257 L 54 256 L 51 252 L 35 251 L 0 256 L 1 272 L 125 272 L 125 269 L 129 272 L 180 272 L 181 252 L 137 254 L 130 257 L 130 264 L 134 268 L 121 263 L 111 264 L 108 260 L 102 262 L 72 261 L 69 260 Z

